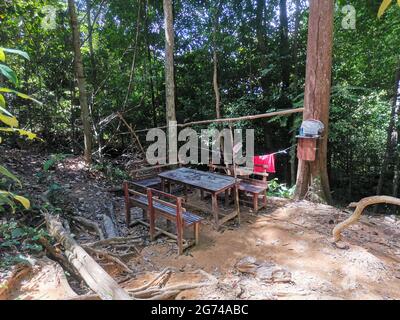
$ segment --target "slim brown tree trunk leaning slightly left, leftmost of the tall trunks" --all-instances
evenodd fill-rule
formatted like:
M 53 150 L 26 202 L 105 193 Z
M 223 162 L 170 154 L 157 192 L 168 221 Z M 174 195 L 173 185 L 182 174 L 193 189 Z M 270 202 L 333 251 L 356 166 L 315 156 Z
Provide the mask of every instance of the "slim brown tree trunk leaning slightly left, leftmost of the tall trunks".
M 90 164 L 92 162 L 92 132 L 90 127 L 90 115 L 86 91 L 86 78 L 83 70 L 82 53 L 81 53 L 81 41 L 80 41 L 80 29 L 79 22 L 76 15 L 76 8 L 74 0 L 68 0 L 68 8 L 70 14 L 70 22 L 72 28 L 72 42 L 75 54 L 75 72 L 78 79 L 79 88 L 79 101 L 81 105 L 81 117 L 83 124 L 83 133 L 85 140 L 85 162 Z

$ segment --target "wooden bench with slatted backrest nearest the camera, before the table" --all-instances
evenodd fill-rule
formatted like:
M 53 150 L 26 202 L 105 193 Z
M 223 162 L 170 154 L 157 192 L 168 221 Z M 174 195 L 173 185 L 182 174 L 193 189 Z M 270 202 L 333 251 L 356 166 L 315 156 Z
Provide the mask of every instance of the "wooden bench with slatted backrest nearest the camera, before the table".
M 133 183 L 133 185 L 142 187 L 135 183 Z M 151 240 L 154 240 L 156 237 L 156 230 L 175 239 L 178 243 L 178 253 L 180 255 L 183 253 L 184 249 L 199 243 L 200 224 L 203 218 L 187 211 L 182 206 L 184 202 L 182 198 L 152 188 L 146 188 L 145 193 L 142 193 L 130 189 L 128 182 L 124 182 L 123 189 L 125 194 L 125 218 L 128 227 L 131 226 L 130 209 L 132 207 L 139 207 L 144 210 L 144 213 L 147 213 L 149 223 L 145 221 L 145 217 L 143 217 L 143 220 L 136 220 L 135 222 L 144 224 L 150 228 Z M 176 235 L 156 227 L 156 220 L 160 216 L 167 219 L 167 221 L 175 223 Z M 183 238 L 184 228 L 192 226 L 194 242 Z

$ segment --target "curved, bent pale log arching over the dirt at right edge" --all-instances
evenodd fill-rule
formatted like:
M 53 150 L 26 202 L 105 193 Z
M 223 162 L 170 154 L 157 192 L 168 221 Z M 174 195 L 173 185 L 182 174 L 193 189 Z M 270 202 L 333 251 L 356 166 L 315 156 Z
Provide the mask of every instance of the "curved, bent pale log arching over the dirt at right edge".
M 354 213 L 348 219 L 339 223 L 333 229 L 333 231 L 332 231 L 333 241 L 334 242 L 340 241 L 342 231 L 345 228 L 347 228 L 348 226 L 350 226 L 351 224 L 357 222 L 366 207 L 373 205 L 373 204 L 379 204 L 379 203 L 387 203 L 387 204 L 394 204 L 394 205 L 400 206 L 400 199 L 394 198 L 394 197 L 389 197 L 389 196 L 374 196 L 374 197 L 368 197 L 368 198 L 361 199 L 359 202 L 350 203 L 349 207 L 351 207 L 351 208 L 356 207 L 356 209 L 354 210 Z

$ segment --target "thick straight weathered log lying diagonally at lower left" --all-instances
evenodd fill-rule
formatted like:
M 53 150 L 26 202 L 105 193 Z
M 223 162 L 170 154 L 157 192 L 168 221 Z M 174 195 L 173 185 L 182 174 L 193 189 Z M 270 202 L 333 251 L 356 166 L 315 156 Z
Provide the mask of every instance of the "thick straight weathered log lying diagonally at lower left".
M 68 234 L 56 216 L 44 213 L 49 233 L 65 248 L 68 261 L 103 300 L 131 300 L 111 276 Z

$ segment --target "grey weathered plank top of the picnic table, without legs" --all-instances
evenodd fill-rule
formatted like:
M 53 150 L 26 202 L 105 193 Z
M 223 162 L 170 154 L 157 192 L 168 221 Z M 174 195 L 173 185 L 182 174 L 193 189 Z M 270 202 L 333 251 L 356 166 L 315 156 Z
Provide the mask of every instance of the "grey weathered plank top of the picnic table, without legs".
M 162 172 L 159 177 L 210 192 L 220 192 L 235 185 L 234 177 L 189 168 Z

